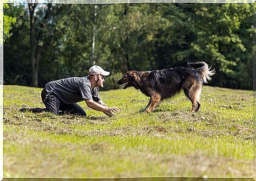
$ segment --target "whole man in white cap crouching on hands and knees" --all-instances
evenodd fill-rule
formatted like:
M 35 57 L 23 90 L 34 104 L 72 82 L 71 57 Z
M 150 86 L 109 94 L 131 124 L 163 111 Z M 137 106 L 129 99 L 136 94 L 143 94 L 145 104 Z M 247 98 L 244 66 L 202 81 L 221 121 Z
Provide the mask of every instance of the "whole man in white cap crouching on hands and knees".
M 77 103 L 85 101 L 87 106 L 105 113 L 112 117 L 118 113 L 118 107 L 108 107 L 98 94 L 99 87 L 103 87 L 104 76 L 110 73 L 104 71 L 100 66 L 93 65 L 86 77 L 70 77 L 49 82 L 42 90 L 41 97 L 45 108 L 22 108 L 33 113 L 51 112 L 59 115 L 60 111 L 67 114 L 86 116 L 83 108 Z

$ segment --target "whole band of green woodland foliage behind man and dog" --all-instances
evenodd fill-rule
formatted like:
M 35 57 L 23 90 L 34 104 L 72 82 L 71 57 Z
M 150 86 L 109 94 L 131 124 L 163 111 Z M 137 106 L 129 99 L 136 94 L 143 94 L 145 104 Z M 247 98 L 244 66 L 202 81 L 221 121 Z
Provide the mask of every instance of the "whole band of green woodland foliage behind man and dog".
M 22 25 L 14 25 L 13 36 L 4 43 L 4 83 L 32 85 L 27 76 L 32 71 L 31 52 L 26 49 L 30 43 L 27 8 L 10 7 L 22 8 L 26 16 L 15 15 Z M 216 69 L 210 85 L 252 89 L 253 12 L 254 4 L 53 4 L 41 39 L 39 86 L 87 75 L 93 63 L 120 75 L 131 69 L 148 71 L 205 61 Z M 17 59 L 21 64 L 13 69 Z

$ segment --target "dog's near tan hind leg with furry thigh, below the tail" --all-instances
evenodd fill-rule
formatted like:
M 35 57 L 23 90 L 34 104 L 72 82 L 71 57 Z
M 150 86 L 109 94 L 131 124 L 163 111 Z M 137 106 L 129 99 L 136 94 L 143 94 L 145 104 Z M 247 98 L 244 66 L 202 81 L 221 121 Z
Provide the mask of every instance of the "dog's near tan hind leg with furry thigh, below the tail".
M 201 104 L 199 101 L 201 90 L 202 90 L 202 82 L 195 81 L 195 80 L 190 86 L 184 87 L 184 93 L 192 102 L 192 109 L 191 109 L 192 113 L 198 112 L 198 110 L 201 107 Z

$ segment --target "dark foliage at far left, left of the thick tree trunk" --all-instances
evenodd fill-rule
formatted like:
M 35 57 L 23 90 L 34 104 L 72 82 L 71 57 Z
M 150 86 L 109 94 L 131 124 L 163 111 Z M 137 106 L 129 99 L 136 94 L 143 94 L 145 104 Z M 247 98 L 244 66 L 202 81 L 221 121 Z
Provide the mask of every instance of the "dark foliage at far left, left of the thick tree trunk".
M 8 5 L 5 12 L 14 15 L 16 23 L 4 43 L 4 83 L 31 85 L 29 19 L 22 6 Z

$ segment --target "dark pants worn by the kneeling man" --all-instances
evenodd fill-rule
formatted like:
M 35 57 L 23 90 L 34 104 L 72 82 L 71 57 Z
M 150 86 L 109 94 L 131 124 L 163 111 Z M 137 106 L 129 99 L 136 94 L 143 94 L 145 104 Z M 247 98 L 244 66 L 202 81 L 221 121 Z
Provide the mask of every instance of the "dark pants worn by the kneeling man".
M 83 108 L 78 104 L 65 104 L 58 96 L 51 92 L 48 93 L 45 89 L 41 92 L 41 98 L 45 105 L 45 109 L 42 111 L 51 112 L 55 115 L 60 115 L 60 113 L 65 114 L 74 114 L 86 116 L 86 112 L 84 112 Z

